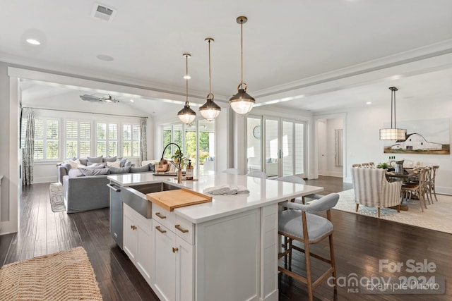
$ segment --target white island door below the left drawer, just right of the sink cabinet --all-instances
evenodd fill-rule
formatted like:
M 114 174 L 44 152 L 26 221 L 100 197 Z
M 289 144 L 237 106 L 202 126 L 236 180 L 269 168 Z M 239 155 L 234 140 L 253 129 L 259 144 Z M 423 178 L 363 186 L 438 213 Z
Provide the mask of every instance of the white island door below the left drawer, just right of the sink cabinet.
M 153 220 L 154 288 L 163 300 L 175 300 L 176 282 L 176 234 Z

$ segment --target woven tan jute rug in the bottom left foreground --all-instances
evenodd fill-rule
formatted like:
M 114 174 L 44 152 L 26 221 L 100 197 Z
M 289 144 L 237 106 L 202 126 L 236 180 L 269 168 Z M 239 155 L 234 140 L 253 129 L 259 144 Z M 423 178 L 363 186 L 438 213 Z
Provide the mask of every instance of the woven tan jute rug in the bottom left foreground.
M 83 247 L 7 264 L 0 300 L 102 300 Z

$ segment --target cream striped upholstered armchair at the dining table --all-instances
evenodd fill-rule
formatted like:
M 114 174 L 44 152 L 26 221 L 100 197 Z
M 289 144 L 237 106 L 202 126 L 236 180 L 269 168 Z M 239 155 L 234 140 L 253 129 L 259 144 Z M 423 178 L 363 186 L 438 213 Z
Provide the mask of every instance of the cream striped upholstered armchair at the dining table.
M 380 208 L 397 207 L 400 212 L 402 181 L 388 182 L 386 169 L 352 168 L 352 183 L 355 192 L 355 211 L 359 205 Z

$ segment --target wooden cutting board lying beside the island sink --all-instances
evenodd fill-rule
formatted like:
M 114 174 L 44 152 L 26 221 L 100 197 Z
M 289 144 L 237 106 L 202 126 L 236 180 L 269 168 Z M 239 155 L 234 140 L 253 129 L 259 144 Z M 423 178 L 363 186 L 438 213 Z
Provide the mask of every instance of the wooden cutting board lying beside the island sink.
M 148 193 L 146 198 L 168 211 L 173 211 L 174 208 L 212 202 L 212 197 L 186 188 Z

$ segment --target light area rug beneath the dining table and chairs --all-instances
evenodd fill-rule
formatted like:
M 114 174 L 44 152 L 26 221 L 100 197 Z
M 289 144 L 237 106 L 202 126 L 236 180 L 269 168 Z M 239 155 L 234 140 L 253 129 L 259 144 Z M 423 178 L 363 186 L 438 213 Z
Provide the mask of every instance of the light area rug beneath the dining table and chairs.
M 350 189 L 338 193 L 340 195 L 339 202 L 333 209 L 355 214 L 355 192 Z M 408 205 L 408 211 L 397 212 L 396 209 L 381 208 L 380 218 L 452 234 L 452 196 L 436 196 L 438 202 L 434 201 L 433 204 L 427 204 L 427 209 L 424 208 L 424 212 L 420 209 L 419 201 L 410 199 L 403 202 L 403 204 Z M 377 218 L 377 209 L 359 205 L 357 214 Z

